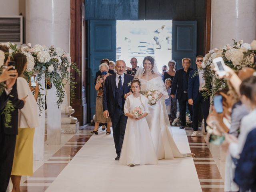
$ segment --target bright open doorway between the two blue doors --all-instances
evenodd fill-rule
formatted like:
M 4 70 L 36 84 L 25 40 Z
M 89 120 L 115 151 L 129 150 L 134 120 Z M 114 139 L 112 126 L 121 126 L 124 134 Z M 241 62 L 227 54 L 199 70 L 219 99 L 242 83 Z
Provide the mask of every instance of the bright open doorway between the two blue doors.
M 172 20 L 117 20 L 116 60 L 124 60 L 131 67 L 135 57 L 138 66 L 145 56 L 156 60 L 159 72 L 172 58 Z

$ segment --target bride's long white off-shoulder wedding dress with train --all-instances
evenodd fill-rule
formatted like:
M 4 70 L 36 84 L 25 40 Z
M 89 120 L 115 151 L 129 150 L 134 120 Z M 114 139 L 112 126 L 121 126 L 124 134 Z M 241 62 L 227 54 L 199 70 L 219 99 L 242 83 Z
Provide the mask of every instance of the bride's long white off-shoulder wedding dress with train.
M 170 122 L 164 100 L 169 96 L 161 76 L 156 76 L 150 80 L 141 78 L 139 80 L 142 93 L 146 90 L 154 89 L 163 94 L 156 102 L 156 105 L 149 105 L 149 114 L 146 116 L 158 160 L 192 156 L 192 154 L 180 153 L 168 128 L 170 127 Z

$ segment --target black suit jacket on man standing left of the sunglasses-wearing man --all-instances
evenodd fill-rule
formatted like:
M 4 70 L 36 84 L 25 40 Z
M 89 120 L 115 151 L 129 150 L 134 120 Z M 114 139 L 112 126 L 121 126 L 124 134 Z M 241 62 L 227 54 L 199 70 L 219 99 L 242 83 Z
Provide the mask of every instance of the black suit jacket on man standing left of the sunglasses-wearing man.
M 188 68 L 188 73 L 192 71 L 192 68 Z M 180 99 L 182 95 L 182 72 L 183 68 L 176 71 L 173 81 L 172 81 L 172 91 L 171 95 L 176 94 L 176 99 Z

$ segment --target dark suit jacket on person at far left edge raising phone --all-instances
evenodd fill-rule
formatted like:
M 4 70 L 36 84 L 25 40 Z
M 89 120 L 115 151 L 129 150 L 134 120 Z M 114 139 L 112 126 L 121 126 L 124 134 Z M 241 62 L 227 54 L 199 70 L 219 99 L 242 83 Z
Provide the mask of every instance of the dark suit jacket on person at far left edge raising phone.
M 10 122 L 11 128 L 6 128 L 4 126 L 4 120 L 5 116 L 4 114 L 1 114 L 1 132 L 8 135 L 17 135 L 18 134 L 18 109 L 22 109 L 24 106 L 24 102 L 22 100 L 18 99 L 18 93 L 17 93 L 17 81 L 12 87 L 12 91 L 10 92 L 10 98 L 9 100 L 12 101 L 12 104 L 14 106 L 14 111 L 10 113 L 12 116 L 12 121 Z

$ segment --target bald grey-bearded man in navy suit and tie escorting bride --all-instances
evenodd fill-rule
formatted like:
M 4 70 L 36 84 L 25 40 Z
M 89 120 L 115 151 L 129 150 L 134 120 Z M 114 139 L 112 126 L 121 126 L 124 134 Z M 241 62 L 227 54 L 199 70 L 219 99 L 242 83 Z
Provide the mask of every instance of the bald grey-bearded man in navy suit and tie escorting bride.
M 111 119 L 117 154 L 115 160 L 119 160 L 127 122 L 127 116 L 124 115 L 124 102 L 130 94 L 128 83 L 132 81 L 133 76 L 124 74 L 126 64 L 123 60 L 118 60 L 115 68 L 116 74 L 108 76 L 105 80 L 103 115 Z

